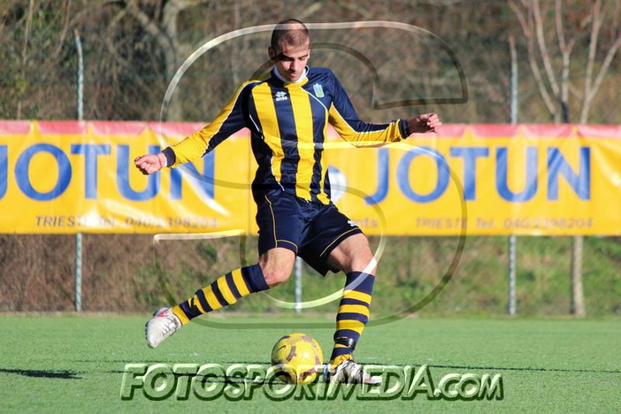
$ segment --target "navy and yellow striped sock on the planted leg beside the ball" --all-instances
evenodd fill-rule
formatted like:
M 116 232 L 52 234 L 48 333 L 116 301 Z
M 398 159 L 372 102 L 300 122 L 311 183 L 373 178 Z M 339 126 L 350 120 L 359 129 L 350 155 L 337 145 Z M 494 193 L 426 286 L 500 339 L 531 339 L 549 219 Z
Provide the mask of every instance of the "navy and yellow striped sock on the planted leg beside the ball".
M 350 272 L 345 280 L 343 297 L 336 314 L 334 349 L 330 362 L 333 368 L 342 360 L 351 358 L 360 334 L 369 320 L 369 305 L 375 276 L 363 272 Z

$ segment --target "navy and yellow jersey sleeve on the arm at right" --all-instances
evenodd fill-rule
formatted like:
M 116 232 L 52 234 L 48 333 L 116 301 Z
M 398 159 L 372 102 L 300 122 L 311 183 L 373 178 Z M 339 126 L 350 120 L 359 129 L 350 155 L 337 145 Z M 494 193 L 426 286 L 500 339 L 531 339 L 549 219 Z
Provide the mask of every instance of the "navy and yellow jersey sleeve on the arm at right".
M 369 124 L 360 120 L 334 73 L 332 79 L 334 96 L 328 111 L 329 122 L 345 141 L 362 147 L 399 142 L 408 137 L 408 122 L 405 119 L 396 119 L 387 124 Z

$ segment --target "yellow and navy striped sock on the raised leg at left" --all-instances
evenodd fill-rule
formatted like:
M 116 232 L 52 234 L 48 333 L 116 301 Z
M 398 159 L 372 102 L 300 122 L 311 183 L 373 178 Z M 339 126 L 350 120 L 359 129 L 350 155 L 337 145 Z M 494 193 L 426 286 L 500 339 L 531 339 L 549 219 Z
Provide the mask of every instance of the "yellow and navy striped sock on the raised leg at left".
M 232 305 L 243 296 L 269 288 L 259 265 L 242 267 L 220 276 L 208 287 L 196 290 L 196 294 L 187 301 L 173 306 L 173 313 L 185 325 L 192 318 Z

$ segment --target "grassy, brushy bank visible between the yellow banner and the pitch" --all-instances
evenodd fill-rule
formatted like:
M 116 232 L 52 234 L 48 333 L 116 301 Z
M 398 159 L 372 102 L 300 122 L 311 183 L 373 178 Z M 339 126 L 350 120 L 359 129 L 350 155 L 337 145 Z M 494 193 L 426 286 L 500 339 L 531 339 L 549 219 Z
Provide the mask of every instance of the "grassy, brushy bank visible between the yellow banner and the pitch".
M 371 238 L 372 246 L 379 239 Z M 417 307 L 446 278 L 456 237 L 388 237 L 373 297 L 374 317 Z M 257 260 L 256 238 L 167 241 L 146 235 L 83 235 L 83 311 L 153 311 L 179 302 L 219 275 Z M 75 237 L 0 235 L 0 311 L 73 311 Z M 584 293 L 587 316 L 621 313 L 621 240 L 585 237 Z M 508 315 L 507 237 L 465 240 L 456 271 L 439 295 L 416 313 L 427 316 Z M 301 297 L 316 300 L 343 287 L 341 274 L 321 278 L 302 264 Z M 516 238 L 517 315 L 571 314 L 571 237 Z M 292 277 L 267 294 L 251 295 L 223 312 L 279 312 L 295 303 Z M 331 313 L 337 303 L 303 309 Z

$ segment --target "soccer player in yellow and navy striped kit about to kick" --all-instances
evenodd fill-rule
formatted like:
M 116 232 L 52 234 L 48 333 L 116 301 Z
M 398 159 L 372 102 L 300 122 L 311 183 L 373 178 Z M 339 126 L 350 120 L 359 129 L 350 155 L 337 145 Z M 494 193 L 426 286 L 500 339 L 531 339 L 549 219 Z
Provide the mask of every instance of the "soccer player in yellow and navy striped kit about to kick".
M 334 73 L 307 65 L 309 31 L 299 20 L 283 20 L 274 28 L 268 53 L 271 72 L 244 82 L 211 124 L 157 155 L 134 160 L 142 173 L 157 173 L 203 157 L 246 127 L 258 164 L 252 183 L 258 263 L 228 272 L 187 301 L 156 311 L 146 325 L 147 341 L 155 348 L 192 318 L 288 280 L 299 256 L 324 276 L 328 271 L 346 274 L 326 380 L 378 383 L 352 357 L 369 318 L 377 264 L 362 230 L 330 201 L 323 157 L 327 125 L 353 145 L 368 146 L 435 132 L 441 122 L 434 113 L 387 124 L 358 119 Z

